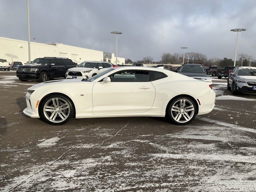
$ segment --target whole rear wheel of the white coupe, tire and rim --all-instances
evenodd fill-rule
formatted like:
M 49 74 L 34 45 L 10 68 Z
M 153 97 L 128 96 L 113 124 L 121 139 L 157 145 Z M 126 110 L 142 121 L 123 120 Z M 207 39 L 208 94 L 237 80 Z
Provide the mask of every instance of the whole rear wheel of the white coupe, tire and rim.
M 197 112 L 196 103 L 188 97 L 179 97 L 167 107 L 166 117 L 174 124 L 185 125 L 195 118 Z

